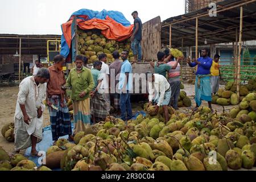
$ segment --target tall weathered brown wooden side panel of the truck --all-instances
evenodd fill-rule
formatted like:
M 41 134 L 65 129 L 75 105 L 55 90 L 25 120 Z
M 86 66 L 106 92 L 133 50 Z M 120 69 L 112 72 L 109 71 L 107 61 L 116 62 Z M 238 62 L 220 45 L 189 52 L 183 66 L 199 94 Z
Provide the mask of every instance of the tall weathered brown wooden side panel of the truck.
M 157 16 L 142 25 L 143 60 L 156 60 L 156 53 L 161 49 L 161 19 Z

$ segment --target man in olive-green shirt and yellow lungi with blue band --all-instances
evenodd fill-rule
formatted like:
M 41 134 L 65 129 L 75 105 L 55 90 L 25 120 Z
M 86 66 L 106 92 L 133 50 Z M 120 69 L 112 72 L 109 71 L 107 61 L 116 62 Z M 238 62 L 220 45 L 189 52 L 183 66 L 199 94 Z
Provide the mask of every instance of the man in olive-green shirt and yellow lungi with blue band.
M 83 57 L 76 56 L 76 67 L 71 69 L 68 75 L 65 88 L 71 88 L 71 99 L 74 110 L 74 132 L 85 131 L 90 125 L 90 91 L 92 91 L 94 82 L 90 69 L 83 65 Z

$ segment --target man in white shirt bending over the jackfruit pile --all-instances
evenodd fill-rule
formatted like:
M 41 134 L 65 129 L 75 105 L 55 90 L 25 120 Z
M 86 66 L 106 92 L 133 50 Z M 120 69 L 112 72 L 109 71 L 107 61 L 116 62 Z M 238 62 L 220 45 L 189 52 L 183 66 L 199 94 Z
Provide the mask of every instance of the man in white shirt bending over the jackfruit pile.
M 149 86 L 149 103 L 150 105 L 152 105 L 152 100 L 155 95 L 156 97 L 154 101 L 157 103 L 157 105 L 155 106 L 155 112 L 158 112 L 159 107 L 163 106 L 164 118 L 166 122 L 168 122 L 168 104 L 171 98 L 171 86 L 163 75 L 152 74 L 150 72 L 147 72 L 146 77 Z

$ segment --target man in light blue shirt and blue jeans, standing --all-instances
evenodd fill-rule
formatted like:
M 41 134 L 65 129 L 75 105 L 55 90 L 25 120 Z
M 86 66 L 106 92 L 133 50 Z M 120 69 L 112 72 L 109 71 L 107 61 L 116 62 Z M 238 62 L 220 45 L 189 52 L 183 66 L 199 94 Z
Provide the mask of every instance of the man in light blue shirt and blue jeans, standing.
M 118 89 L 120 90 L 120 109 L 121 109 L 121 119 L 123 121 L 128 121 L 133 117 L 131 111 L 130 93 L 133 89 L 133 76 L 131 75 L 131 64 L 127 59 L 129 51 L 123 50 L 121 53 L 121 58 L 123 60 L 121 66 L 121 72 L 119 77 Z M 127 117 L 126 117 L 127 111 Z

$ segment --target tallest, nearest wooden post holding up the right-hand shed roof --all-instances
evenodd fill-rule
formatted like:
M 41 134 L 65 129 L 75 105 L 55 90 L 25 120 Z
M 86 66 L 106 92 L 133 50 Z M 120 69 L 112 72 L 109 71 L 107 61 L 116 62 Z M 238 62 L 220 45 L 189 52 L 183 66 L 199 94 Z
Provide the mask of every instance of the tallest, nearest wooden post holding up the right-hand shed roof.
M 239 50 L 237 61 L 237 96 L 240 99 L 240 71 L 241 71 L 241 51 L 242 51 L 242 30 L 243 30 L 243 7 L 240 7 L 240 32 L 239 32 Z

